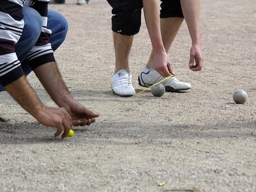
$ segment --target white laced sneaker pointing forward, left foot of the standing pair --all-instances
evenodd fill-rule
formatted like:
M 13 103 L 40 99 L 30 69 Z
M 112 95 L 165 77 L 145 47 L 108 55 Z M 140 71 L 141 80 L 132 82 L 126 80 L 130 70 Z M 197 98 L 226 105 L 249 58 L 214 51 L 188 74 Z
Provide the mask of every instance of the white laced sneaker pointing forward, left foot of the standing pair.
M 135 89 L 132 87 L 132 74 L 125 69 L 120 69 L 111 77 L 111 88 L 116 95 L 128 97 L 135 95 Z

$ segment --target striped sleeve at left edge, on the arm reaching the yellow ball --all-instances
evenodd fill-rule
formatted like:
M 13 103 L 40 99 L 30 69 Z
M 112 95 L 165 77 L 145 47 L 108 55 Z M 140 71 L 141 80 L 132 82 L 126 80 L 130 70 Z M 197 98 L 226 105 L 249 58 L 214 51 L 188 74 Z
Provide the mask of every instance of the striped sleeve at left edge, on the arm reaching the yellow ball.
M 20 3 L 19 3 L 20 2 Z M 12 83 L 23 75 L 14 45 L 23 31 L 21 1 L 0 1 L 0 83 Z

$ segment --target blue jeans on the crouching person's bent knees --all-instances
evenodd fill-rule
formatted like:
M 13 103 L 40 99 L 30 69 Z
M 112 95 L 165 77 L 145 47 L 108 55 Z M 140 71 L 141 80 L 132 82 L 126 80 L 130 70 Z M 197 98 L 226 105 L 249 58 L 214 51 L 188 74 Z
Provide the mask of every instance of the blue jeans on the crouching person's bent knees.
M 23 16 L 25 26 L 22 36 L 15 45 L 15 51 L 18 59 L 22 62 L 22 69 L 25 75 L 28 75 L 32 69 L 29 66 L 26 56 L 35 45 L 42 27 L 42 19 L 40 14 L 31 7 L 23 7 Z M 55 51 L 65 40 L 68 32 L 68 22 L 60 13 L 48 10 L 47 28 L 51 29 L 50 43 L 53 51 Z M 4 87 L 0 84 L 0 92 L 4 91 Z

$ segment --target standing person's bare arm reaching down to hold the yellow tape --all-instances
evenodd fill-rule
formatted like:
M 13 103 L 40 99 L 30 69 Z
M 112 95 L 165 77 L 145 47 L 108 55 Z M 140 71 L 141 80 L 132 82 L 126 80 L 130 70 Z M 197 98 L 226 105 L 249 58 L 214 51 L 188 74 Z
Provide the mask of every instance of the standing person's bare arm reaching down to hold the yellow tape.
M 154 55 L 154 69 L 162 77 L 173 74 L 169 57 L 163 46 L 160 31 L 159 4 L 156 0 L 143 0 L 145 22 L 150 35 Z

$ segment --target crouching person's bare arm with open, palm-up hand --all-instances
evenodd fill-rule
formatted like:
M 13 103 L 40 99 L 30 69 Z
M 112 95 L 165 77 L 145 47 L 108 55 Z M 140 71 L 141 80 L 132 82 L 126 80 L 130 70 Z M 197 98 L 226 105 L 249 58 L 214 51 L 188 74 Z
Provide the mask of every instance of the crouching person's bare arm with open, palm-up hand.
M 69 93 L 56 62 L 41 65 L 34 69 L 34 72 L 53 101 L 71 115 L 73 126 L 90 125 L 95 122 L 96 117 L 99 117 L 99 114 L 87 109 Z

